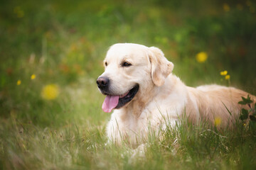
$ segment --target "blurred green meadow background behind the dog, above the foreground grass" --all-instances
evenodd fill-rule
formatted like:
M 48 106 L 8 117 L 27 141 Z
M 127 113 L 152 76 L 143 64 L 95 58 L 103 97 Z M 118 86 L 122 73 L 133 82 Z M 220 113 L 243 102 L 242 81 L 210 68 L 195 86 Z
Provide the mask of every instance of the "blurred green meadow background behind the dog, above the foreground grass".
M 95 81 L 117 42 L 159 47 L 188 86 L 256 94 L 255 10 L 244 0 L 1 1 L 1 130 L 10 119 L 105 125 Z

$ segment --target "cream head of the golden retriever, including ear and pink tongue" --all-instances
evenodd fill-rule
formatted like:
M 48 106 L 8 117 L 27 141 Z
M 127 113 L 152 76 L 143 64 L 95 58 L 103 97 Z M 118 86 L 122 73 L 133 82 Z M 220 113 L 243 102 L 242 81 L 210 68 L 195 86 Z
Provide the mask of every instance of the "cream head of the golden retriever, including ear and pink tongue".
M 154 86 L 162 86 L 174 68 L 159 48 L 131 43 L 112 45 L 104 65 L 97 86 L 107 95 L 102 105 L 105 112 L 122 108 L 150 93 Z

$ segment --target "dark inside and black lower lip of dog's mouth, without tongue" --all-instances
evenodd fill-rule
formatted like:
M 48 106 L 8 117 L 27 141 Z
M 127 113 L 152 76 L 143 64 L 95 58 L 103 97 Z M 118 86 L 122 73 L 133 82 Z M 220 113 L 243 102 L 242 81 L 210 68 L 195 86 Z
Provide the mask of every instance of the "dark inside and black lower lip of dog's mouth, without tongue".
M 131 90 L 129 90 L 129 92 L 127 92 L 127 94 L 120 96 L 118 104 L 115 108 L 122 108 L 123 106 L 127 105 L 127 103 L 132 101 L 134 96 L 136 96 L 138 91 L 139 91 L 139 84 L 135 85 Z

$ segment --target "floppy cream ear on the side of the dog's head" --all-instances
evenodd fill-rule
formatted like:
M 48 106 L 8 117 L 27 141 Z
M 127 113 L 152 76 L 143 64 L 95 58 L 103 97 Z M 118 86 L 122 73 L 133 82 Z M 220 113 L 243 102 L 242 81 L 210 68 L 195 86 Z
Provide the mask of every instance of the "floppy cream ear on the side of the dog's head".
M 174 69 L 174 64 L 169 62 L 164 57 L 164 53 L 157 47 L 149 47 L 149 60 L 152 80 L 156 86 L 162 86 L 166 77 Z

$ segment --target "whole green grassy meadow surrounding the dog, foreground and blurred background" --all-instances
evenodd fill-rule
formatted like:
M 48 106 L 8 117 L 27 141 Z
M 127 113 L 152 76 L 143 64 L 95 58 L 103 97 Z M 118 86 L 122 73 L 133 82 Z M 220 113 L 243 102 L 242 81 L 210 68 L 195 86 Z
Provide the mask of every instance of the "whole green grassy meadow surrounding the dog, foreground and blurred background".
M 256 169 L 256 131 L 241 120 L 182 120 L 131 161 L 127 145 L 105 145 L 95 83 L 108 47 L 135 42 L 161 48 L 188 86 L 256 94 L 254 1 L 3 1 L 0 37 L 1 169 Z

